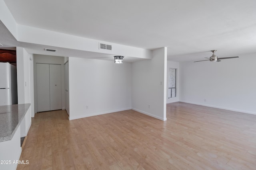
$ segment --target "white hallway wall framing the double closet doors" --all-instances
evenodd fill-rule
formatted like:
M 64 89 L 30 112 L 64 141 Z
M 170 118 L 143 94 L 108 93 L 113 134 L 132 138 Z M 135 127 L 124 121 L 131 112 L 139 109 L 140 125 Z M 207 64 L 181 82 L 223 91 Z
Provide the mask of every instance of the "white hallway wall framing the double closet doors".
M 50 56 L 50 55 L 38 55 L 34 54 L 34 102 L 35 113 L 37 112 L 37 96 L 36 96 L 36 63 L 45 64 L 61 64 L 61 98 L 62 109 L 65 109 L 65 89 L 64 89 L 64 57 Z

